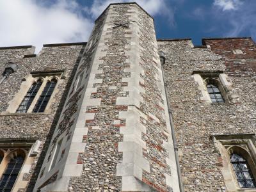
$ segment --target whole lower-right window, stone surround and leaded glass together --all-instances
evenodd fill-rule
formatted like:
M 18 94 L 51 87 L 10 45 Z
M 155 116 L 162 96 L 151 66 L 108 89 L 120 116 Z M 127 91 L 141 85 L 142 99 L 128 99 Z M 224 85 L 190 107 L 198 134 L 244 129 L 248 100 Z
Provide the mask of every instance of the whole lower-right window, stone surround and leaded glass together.
M 214 152 L 221 156 L 221 172 L 227 191 L 255 191 L 255 134 L 214 134 Z

